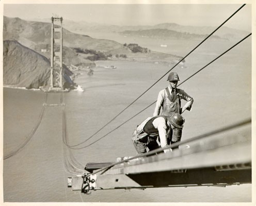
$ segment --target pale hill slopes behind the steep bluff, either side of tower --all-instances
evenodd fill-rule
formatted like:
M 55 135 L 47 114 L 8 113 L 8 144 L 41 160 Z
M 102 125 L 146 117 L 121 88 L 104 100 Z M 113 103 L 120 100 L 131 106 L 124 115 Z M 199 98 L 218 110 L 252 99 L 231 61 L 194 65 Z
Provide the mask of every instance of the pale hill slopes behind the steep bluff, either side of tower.
M 49 20 L 50 22 L 50 20 Z M 3 40 L 15 40 L 27 46 L 36 52 L 50 57 L 51 45 L 51 23 L 25 21 L 20 18 L 8 18 L 4 16 Z M 69 66 L 73 65 L 94 65 L 88 59 L 84 59 L 72 48 L 79 47 L 83 49 L 93 49 L 101 52 L 114 52 L 118 50 L 122 54 L 130 53 L 129 49 L 123 47 L 122 44 L 105 39 L 94 39 L 87 35 L 78 35 L 63 28 L 63 61 Z M 41 49 L 46 49 L 45 53 L 41 53 Z M 72 60 L 71 60 L 72 59 Z

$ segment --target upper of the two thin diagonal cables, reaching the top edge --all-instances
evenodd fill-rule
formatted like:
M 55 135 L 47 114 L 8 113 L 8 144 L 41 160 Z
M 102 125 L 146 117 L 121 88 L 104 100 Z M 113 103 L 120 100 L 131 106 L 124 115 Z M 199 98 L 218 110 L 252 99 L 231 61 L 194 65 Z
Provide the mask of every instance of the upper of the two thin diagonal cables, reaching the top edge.
M 223 26 L 223 24 L 225 24 L 227 21 L 229 21 L 239 10 L 241 10 L 246 4 L 244 4 L 243 6 L 241 6 L 239 9 L 237 9 L 226 21 L 224 21 L 221 25 L 219 25 L 212 33 L 210 33 L 210 35 L 208 35 L 201 43 L 199 43 L 194 49 L 192 49 L 185 57 L 183 57 L 177 64 L 175 64 L 172 68 L 170 68 L 169 71 L 167 71 L 162 77 L 160 77 L 155 83 L 153 83 L 145 92 L 143 92 L 141 95 L 139 95 L 135 100 L 133 100 L 127 107 L 125 107 L 122 111 L 120 111 L 116 116 L 114 116 L 112 119 L 110 119 L 109 122 L 107 122 L 103 127 L 101 127 L 98 131 L 94 132 L 91 136 L 89 136 L 89 138 L 87 138 L 86 140 L 84 140 L 83 142 L 76 144 L 76 145 L 67 145 L 69 147 L 75 147 L 75 146 L 79 146 L 85 142 L 87 142 L 88 140 L 90 140 L 95 134 L 99 133 L 102 129 L 104 129 L 107 125 L 109 125 L 111 122 L 113 122 L 120 114 L 122 114 L 127 108 L 129 108 L 130 106 L 132 106 L 134 104 L 135 101 L 137 101 L 142 95 L 144 95 L 146 92 L 148 92 L 157 82 L 159 82 L 162 78 L 164 78 L 170 71 L 173 70 L 174 67 L 176 67 L 179 63 L 181 63 L 188 55 L 190 55 L 192 52 L 194 52 L 195 49 L 197 49 L 204 41 L 206 41 L 207 39 L 209 39 L 213 33 L 215 33 L 221 26 Z

